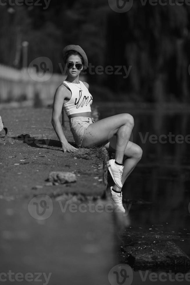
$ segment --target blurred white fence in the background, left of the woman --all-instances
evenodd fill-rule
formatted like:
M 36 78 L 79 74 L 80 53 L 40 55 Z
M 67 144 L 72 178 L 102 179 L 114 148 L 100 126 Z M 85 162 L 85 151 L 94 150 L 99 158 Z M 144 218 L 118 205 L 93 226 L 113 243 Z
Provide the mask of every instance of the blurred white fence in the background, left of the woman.
M 35 68 L 18 70 L 0 64 L 0 103 L 22 100 L 53 102 L 57 87 L 66 79 L 65 75 L 37 74 Z M 81 76 L 80 80 L 84 80 Z

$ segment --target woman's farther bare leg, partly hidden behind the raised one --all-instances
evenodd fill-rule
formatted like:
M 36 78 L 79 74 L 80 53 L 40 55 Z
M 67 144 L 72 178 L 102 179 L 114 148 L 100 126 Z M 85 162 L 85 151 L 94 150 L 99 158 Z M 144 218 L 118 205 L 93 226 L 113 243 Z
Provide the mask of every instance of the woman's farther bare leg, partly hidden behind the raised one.
M 111 138 L 110 142 L 105 145 L 107 149 L 109 149 L 111 152 L 115 152 L 116 147 L 116 139 Z M 128 145 L 124 152 L 124 158 L 123 158 L 123 174 L 121 183 L 124 184 L 127 177 L 130 175 L 130 173 L 133 171 L 139 160 L 142 156 L 142 149 L 138 145 L 132 142 L 128 142 Z M 113 189 L 116 191 L 121 191 L 121 188 L 117 187 L 116 185 L 113 186 Z

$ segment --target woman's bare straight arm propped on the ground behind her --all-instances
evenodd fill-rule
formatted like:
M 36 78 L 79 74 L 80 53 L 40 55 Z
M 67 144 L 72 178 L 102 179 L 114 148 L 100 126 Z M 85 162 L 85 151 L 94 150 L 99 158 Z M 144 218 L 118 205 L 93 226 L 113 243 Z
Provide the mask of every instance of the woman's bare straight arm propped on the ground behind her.
M 57 88 L 55 92 L 55 96 L 54 96 L 54 101 L 53 101 L 53 111 L 52 111 L 51 123 L 53 125 L 56 135 L 58 136 L 62 144 L 63 152 L 76 152 L 77 149 L 73 147 L 72 145 L 70 145 L 67 139 L 65 138 L 63 129 L 62 129 L 62 126 L 59 120 L 61 112 L 62 112 L 63 101 L 66 97 L 70 95 L 69 92 L 70 91 L 64 85 L 60 85 Z

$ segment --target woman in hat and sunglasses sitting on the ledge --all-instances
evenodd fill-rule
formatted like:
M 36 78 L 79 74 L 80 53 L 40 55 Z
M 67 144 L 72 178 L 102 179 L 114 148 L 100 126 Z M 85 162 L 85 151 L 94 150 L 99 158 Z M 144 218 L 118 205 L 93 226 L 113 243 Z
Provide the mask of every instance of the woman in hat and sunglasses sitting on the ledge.
M 69 45 L 63 49 L 63 60 L 67 68 L 67 78 L 57 88 L 53 102 L 52 125 L 57 134 L 63 152 L 76 152 L 77 148 L 67 142 L 60 123 L 62 106 L 69 118 L 69 125 L 78 147 L 105 146 L 115 153 L 115 159 L 109 161 L 109 172 L 114 180 L 110 187 L 112 201 L 122 213 L 122 186 L 142 156 L 142 149 L 129 141 L 134 120 L 130 114 L 114 115 L 97 122 L 91 117 L 92 95 L 89 85 L 79 81 L 79 74 L 87 68 L 88 60 L 78 45 Z

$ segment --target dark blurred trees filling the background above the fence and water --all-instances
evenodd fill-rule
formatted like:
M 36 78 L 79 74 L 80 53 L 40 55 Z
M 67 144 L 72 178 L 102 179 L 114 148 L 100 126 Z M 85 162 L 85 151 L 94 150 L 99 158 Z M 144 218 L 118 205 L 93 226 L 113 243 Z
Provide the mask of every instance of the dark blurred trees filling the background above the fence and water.
M 134 1 L 130 11 L 116 13 L 107 0 L 53 0 L 43 8 L 0 7 L 1 63 L 20 68 L 19 46 L 28 41 L 28 64 L 47 56 L 61 72 L 63 47 L 79 44 L 94 66 L 132 66 L 128 78 L 88 74 L 97 90 L 107 86 L 138 101 L 189 101 L 189 6 Z

